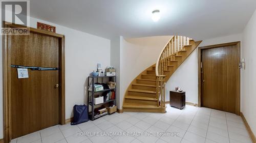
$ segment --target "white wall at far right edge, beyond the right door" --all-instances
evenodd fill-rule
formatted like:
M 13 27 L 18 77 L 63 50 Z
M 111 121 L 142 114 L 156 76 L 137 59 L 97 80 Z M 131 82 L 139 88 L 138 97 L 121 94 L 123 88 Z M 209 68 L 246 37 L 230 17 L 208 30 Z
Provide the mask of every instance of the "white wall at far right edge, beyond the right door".
M 242 112 L 251 127 L 254 135 L 256 134 L 256 11 L 252 15 L 250 21 L 245 27 L 243 33 L 243 54 L 245 59 L 245 70 L 242 70 Z

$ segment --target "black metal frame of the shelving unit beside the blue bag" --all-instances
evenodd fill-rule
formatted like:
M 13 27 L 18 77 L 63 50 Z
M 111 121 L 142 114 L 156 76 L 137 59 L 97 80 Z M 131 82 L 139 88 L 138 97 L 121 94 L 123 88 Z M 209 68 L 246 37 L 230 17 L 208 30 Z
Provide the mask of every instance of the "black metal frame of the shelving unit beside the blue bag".
M 95 92 L 94 91 L 94 84 L 96 82 L 99 82 L 99 79 L 101 82 L 106 82 L 104 79 L 107 79 L 108 78 L 108 81 L 113 81 L 113 82 L 116 82 L 116 76 L 88 76 L 88 87 L 87 87 L 87 93 L 88 93 L 88 106 L 90 105 L 92 107 L 92 111 L 89 112 L 89 109 L 88 109 L 88 112 L 89 112 L 89 117 L 90 119 L 93 121 L 94 119 L 97 119 L 97 118 L 100 118 L 102 116 L 97 116 L 97 118 L 95 118 L 95 113 L 94 113 L 94 109 L 95 109 L 95 104 L 94 104 L 94 94 L 95 93 L 103 93 L 105 91 L 115 91 L 115 94 L 116 94 L 116 88 L 114 89 L 105 89 L 103 91 L 97 91 Z M 89 90 L 90 87 L 92 85 L 92 90 Z M 90 97 L 91 97 L 91 100 L 90 100 Z M 97 104 L 97 105 L 103 105 L 103 104 L 106 104 L 106 103 L 110 103 L 110 102 L 113 102 L 115 105 L 116 105 L 116 99 L 112 99 L 112 100 L 107 100 L 107 101 L 104 101 L 103 103 L 101 104 Z M 108 114 L 106 114 L 108 115 Z M 103 115 L 105 116 L 105 115 Z

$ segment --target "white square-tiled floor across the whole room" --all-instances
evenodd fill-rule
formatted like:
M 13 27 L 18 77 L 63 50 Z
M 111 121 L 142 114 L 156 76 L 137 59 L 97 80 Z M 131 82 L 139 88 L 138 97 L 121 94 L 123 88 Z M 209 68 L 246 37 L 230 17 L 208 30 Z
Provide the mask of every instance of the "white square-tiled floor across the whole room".
M 251 143 L 239 116 L 188 105 L 184 110 L 166 106 L 166 113 L 114 113 L 111 116 L 105 116 L 77 126 L 57 125 L 13 139 L 11 142 Z M 87 135 L 77 136 L 77 132 Z M 116 134 L 106 135 L 106 133 Z M 161 134 L 159 135 L 159 133 Z M 121 134 L 123 135 L 121 136 Z

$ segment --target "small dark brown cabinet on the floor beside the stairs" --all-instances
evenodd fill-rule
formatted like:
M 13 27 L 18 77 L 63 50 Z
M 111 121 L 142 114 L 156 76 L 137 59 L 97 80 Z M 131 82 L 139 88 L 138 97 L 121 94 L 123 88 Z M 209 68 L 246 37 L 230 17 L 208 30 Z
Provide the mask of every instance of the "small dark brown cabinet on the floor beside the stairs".
M 179 109 L 185 108 L 186 105 L 186 93 L 178 91 L 170 91 L 170 106 Z

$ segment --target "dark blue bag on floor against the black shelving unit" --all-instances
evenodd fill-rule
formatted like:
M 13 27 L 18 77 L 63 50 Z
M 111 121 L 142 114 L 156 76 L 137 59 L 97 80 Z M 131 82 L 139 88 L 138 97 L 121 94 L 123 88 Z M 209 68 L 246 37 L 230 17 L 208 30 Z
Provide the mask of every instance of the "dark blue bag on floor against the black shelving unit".
M 74 106 L 74 119 L 71 125 L 77 125 L 83 122 L 87 122 L 88 119 L 88 106 L 87 105 L 75 105 Z

